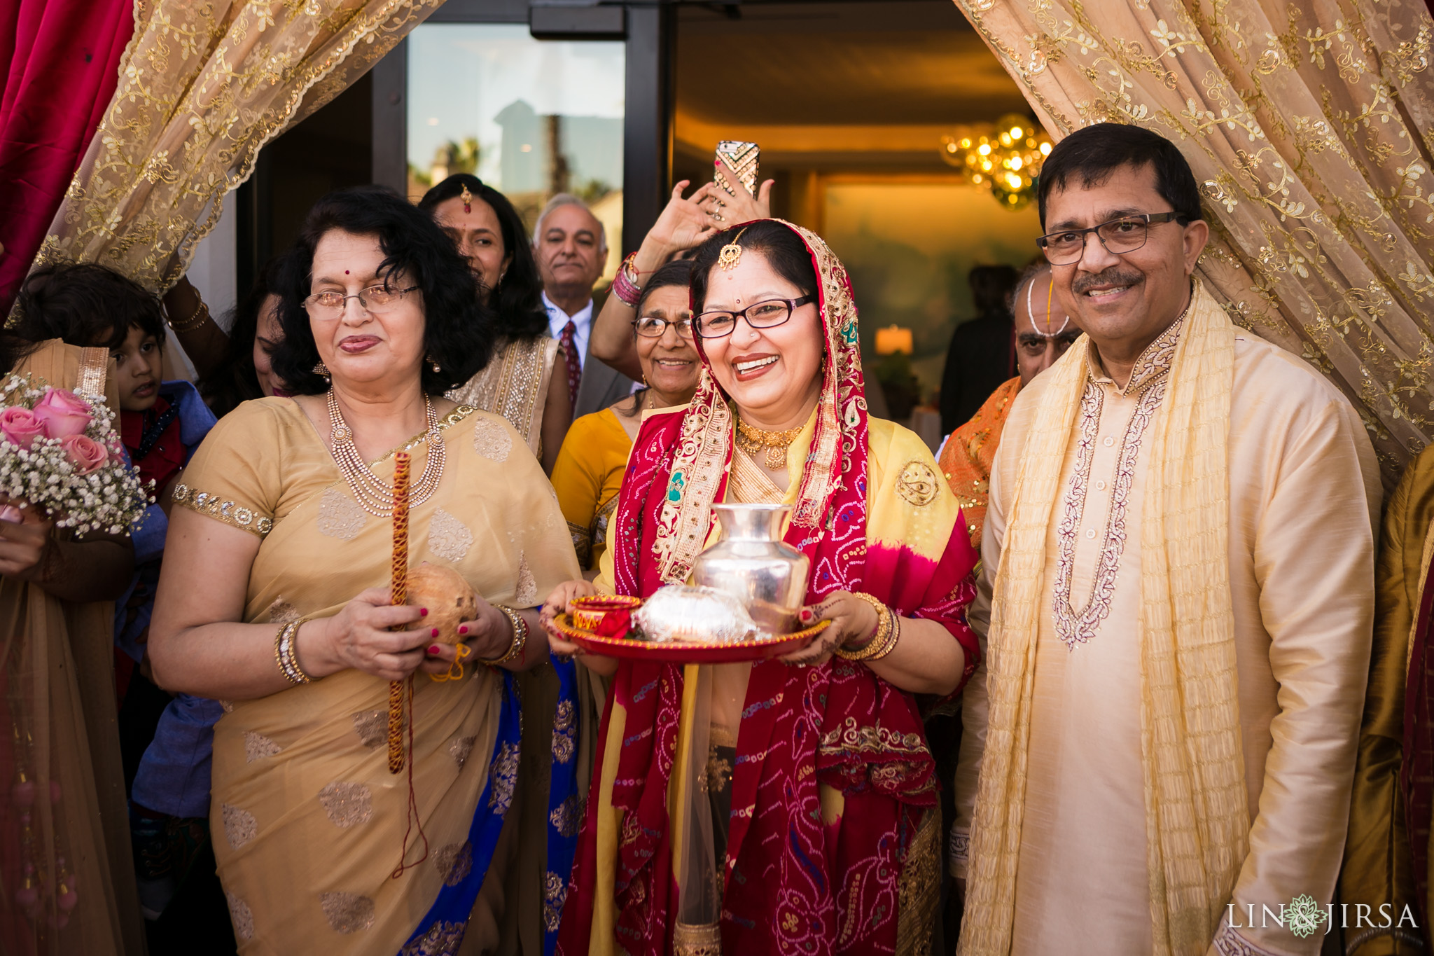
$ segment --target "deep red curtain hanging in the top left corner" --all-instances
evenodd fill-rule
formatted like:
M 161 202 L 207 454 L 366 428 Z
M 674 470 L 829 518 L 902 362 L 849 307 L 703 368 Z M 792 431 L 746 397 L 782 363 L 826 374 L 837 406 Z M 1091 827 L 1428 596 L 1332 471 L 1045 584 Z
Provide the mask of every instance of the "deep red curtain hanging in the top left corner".
M 133 0 L 0 0 L 0 315 L 115 95 Z

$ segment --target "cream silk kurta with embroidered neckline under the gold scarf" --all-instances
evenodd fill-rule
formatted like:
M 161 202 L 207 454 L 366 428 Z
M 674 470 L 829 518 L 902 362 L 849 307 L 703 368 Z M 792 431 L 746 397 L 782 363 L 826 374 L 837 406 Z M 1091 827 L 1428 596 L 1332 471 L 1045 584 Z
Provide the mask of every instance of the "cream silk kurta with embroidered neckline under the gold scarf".
M 1203 295 L 1196 287 L 1187 308 Z M 1169 952 L 1153 937 L 1147 856 L 1140 522 L 1147 441 L 1169 414 L 1166 386 L 1186 324 L 1182 315 L 1164 328 L 1123 386 L 1096 347 L 1063 360 L 1084 364 L 1084 387 L 1037 591 L 1012 953 Z M 1021 391 L 995 459 L 971 615 L 982 634 L 1022 451 L 1050 387 L 1041 376 Z M 1226 552 L 1250 826 L 1210 952 L 1315 953 L 1325 926 L 1299 937 L 1262 907 L 1279 913 L 1308 894 L 1322 910 L 1334 893 L 1369 655 L 1378 469 L 1344 397 L 1296 357 L 1242 330 L 1229 408 Z M 982 664 L 965 692 L 952 831 L 958 879 L 967 876 L 987 740 L 985 678 Z

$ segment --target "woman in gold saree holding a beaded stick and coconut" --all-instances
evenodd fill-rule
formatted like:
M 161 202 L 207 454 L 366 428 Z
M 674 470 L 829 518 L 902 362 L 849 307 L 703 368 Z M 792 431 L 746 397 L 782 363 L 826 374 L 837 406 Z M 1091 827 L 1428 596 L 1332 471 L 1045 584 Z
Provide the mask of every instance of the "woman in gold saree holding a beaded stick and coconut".
M 155 679 L 228 709 L 211 823 L 235 937 L 244 953 L 490 952 L 512 672 L 548 658 L 533 606 L 576 572 L 562 513 L 506 421 L 440 397 L 490 341 L 424 214 L 376 188 L 333 193 L 281 285 L 275 370 L 295 397 L 242 404 L 195 454 L 151 629 Z M 462 679 L 429 677 L 455 659 L 430 609 L 389 606 L 396 449 L 413 459 L 410 563 L 479 595 Z M 389 682 L 410 675 L 393 775 Z

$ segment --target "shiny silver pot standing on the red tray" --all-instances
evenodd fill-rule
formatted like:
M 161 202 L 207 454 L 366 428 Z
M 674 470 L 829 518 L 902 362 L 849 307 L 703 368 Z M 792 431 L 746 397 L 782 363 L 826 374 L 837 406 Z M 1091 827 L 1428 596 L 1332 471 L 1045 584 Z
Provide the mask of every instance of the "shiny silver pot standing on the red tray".
M 767 634 L 799 631 L 812 562 L 783 543 L 790 505 L 713 505 L 721 539 L 693 562 L 693 582 L 743 602 Z

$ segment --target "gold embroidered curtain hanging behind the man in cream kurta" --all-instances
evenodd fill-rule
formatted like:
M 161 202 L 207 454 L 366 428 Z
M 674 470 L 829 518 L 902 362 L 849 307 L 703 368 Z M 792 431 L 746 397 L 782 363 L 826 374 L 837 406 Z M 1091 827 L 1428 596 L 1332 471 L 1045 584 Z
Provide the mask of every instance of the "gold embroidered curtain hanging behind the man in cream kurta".
M 1434 434 L 1434 21 L 1423 0 L 955 0 L 1054 139 L 1176 142 L 1239 325 L 1318 367 L 1387 483 Z

